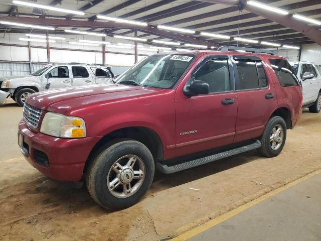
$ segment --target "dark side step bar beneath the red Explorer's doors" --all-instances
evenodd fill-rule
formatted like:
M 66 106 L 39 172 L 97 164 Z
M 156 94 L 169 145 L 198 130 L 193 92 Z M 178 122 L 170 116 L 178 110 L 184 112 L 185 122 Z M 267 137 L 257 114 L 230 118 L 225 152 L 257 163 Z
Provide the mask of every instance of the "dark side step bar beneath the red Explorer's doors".
M 211 156 L 195 159 L 195 160 L 184 162 L 184 163 L 177 164 L 174 166 L 168 166 L 168 165 L 164 165 L 162 163 L 157 162 L 156 168 L 162 173 L 171 174 L 171 173 L 183 171 L 183 170 L 186 170 L 186 169 L 189 169 L 192 167 L 200 166 L 202 164 L 206 164 L 209 162 L 214 162 L 214 161 L 226 158 L 226 157 L 231 157 L 236 154 L 251 151 L 251 150 L 260 148 L 261 146 L 262 146 L 261 142 L 259 140 L 256 140 L 255 143 L 247 145 L 247 146 L 235 148 L 235 149 L 232 149 L 232 150 L 229 150 L 226 152 L 217 153 L 217 154 L 214 154 Z

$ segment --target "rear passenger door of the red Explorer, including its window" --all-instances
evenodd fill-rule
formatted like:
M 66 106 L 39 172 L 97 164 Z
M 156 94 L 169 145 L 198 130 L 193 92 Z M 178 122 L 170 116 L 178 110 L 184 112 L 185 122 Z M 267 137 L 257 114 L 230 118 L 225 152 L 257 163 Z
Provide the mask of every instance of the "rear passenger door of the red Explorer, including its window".
M 234 55 L 232 58 L 238 99 L 236 143 L 262 135 L 277 99 L 265 62 L 255 56 Z

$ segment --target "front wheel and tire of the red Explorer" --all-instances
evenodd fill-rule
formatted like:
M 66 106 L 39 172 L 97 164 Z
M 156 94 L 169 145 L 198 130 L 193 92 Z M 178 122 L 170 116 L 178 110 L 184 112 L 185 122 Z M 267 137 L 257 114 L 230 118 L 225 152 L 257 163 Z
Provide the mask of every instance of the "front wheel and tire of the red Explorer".
M 129 160 L 132 160 L 130 165 Z M 87 189 L 103 208 L 124 209 L 137 203 L 145 195 L 154 172 L 154 160 L 145 145 L 137 141 L 120 140 L 103 147 L 92 160 L 86 174 Z

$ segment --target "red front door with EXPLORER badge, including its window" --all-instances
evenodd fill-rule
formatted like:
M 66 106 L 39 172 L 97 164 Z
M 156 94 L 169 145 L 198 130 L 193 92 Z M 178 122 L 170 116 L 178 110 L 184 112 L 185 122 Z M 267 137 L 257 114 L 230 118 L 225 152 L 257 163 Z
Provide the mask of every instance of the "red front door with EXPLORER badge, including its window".
M 209 94 L 188 97 L 177 91 L 176 155 L 233 143 L 238 101 L 231 62 L 227 56 L 206 57 L 191 76 L 209 84 Z

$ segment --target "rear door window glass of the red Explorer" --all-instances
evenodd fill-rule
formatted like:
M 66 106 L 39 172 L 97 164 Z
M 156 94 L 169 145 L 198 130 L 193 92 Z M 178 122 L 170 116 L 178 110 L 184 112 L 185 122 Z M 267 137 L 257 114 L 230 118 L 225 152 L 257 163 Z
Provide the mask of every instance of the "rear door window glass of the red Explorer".
M 267 78 L 261 61 L 238 60 L 235 63 L 239 75 L 236 90 L 267 87 Z

